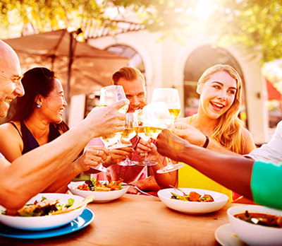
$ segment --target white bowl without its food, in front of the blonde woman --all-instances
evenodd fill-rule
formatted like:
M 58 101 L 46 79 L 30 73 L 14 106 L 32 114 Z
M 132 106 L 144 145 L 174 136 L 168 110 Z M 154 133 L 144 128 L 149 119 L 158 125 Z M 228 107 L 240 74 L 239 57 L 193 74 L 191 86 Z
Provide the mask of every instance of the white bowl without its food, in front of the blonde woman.
M 171 192 L 175 194 L 179 194 L 182 196 L 183 194 L 176 189 L 161 189 L 158 192 L 159 199 L 168 206 L 170 209 L 174 209 L 176 211 L 182 213 L 190 213 L 190 214 L 202 214 L 202 213 L 212 213 L 221 209 L 226 202 L 228 201 L 228 197 L 225 194 L 221 194 L 219 192 L 212 192 L 207 189 L 190 189 L 190 188 L 181 188 L 186 194 L 190 192 L 197 192 L 201 195 L 209 194 L 214 198 L 212 202 L 197 202 L 197 201 L 179 201 L 176 199 L 171 199 Z

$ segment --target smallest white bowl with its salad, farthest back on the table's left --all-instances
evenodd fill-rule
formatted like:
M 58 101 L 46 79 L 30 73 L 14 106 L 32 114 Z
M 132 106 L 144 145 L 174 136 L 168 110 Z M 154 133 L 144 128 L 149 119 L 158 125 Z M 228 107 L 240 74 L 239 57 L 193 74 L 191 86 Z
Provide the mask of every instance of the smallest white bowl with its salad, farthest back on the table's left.
M 68 189 L 72 194 L 88 197 L 94 195 L 94 201 L 97 203 L 113 201 L 122 197 L 129 186 L 123 183 L 123 180 L 112 181 L 111 176 L 107 175 L 108 180 L 90 179 L 82 182 L 71 182 Z

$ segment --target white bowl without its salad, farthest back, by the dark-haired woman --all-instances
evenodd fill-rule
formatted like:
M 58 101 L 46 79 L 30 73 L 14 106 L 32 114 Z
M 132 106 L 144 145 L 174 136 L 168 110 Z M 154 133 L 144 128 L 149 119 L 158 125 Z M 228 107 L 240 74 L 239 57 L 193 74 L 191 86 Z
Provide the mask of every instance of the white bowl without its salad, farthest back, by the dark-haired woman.
M 107 181 L 100 181 L 102 183 Z M 88 197 L 90 195 L 94 195 L 94 201 L 93 202 L 108 202 L 112 201 L 114 199 L 118 199 L 122 197 L 127 191 L 129 186 L 123 186 L 123 189 L 120 190 L 113 190 L 110 192 L 92 192 L 92 191 L 86 191 L 86 190 L 80 190 L 75 189 L 78 187 L 78 185 L 83 185 L 85 182 L 71 182 L 68 184 L 68 189 L 71 191 L 71 193 L 76 194 L 81 197 Z

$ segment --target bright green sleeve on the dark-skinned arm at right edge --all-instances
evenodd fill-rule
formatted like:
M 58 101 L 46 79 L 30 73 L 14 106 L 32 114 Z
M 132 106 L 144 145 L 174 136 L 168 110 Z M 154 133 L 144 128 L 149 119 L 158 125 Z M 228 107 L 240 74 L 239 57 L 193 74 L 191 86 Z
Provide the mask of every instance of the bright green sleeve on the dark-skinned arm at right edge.
M 282 210 L 282 163 L 255 162 L 251 189 L 255 203 Z

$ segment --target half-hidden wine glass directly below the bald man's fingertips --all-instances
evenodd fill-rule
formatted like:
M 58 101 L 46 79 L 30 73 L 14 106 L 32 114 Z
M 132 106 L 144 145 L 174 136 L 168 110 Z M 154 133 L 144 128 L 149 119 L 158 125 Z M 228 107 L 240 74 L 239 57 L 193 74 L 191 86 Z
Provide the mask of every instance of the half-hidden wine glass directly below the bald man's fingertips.
M 128 112 L 126 113 L 125 129 L 121 134 L 121 139 L 124 139 L 125 141 L 130 141 L 135 136 L 136 136 L 136 132 L 134 130 L 134 115 L 133 112 Z M 137 164 L 137 162 L 134 160 L 130 160 L 128 156 L 126 156 L 125 160 L 118 163 L 118 165 L 122 165 L 122 166 L 130 166 L 135 164 Z

